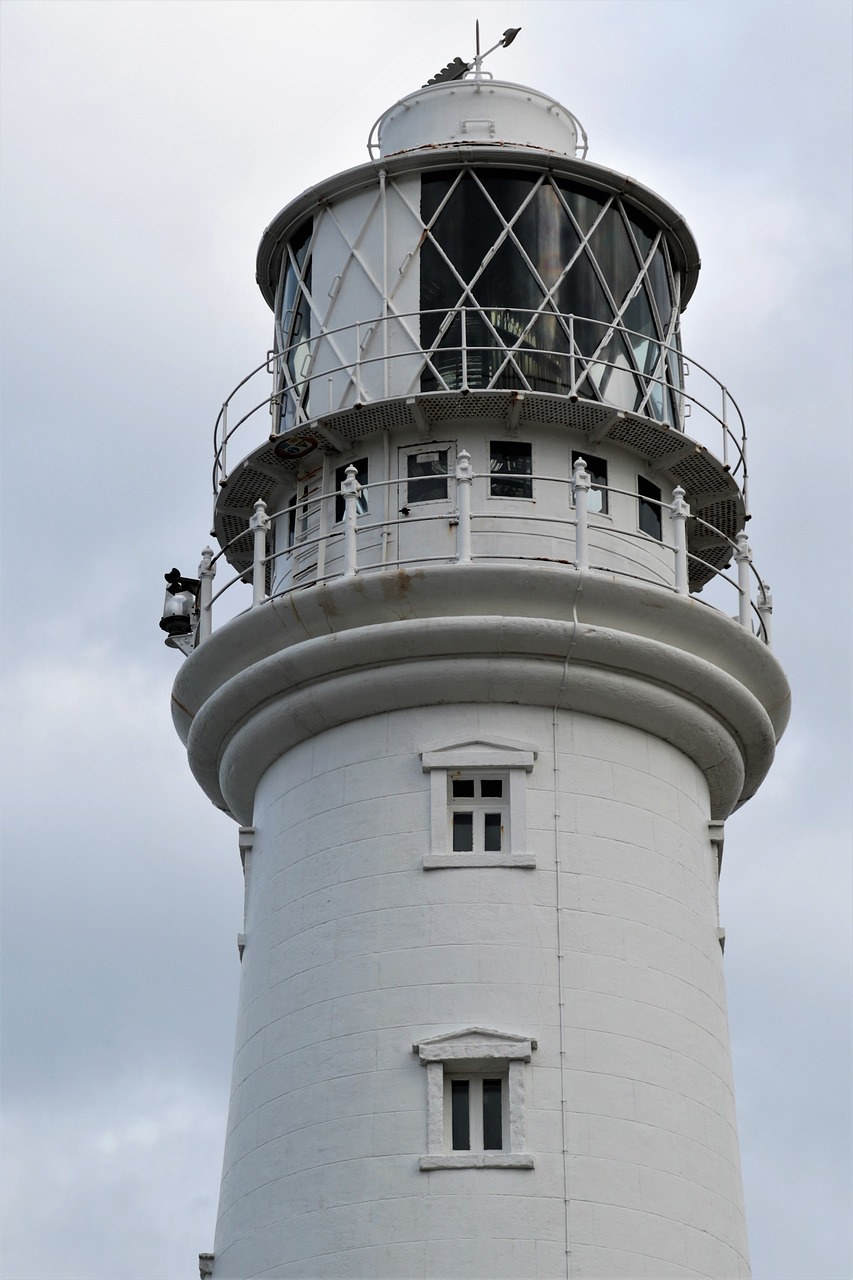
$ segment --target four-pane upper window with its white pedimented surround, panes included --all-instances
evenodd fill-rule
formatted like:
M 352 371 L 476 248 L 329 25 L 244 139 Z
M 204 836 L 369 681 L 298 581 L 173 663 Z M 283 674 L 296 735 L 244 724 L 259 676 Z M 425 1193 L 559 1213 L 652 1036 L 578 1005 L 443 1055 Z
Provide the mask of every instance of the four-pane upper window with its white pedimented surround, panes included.
M 469 741 L 421 753 L 430 774 L 430 847 L 424 868 L 535 867 L 528 850 L 529 742 Z

